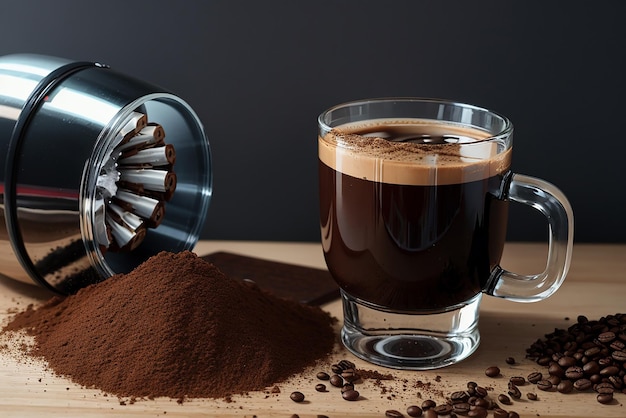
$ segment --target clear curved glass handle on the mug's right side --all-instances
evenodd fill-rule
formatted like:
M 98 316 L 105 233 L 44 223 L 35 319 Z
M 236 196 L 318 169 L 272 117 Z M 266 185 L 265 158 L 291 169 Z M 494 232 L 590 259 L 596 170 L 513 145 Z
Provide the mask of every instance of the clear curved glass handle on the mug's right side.
M 548 220 L 548 260 L 542 273 L 517 274 L 496 266 L 485 293 L 515 302 L 537 302 L 549 297 L 569 271 L 574 241 L 574 215 L 565 195 L 553 184 L 513 174 L 503 198 L 529 205 Z

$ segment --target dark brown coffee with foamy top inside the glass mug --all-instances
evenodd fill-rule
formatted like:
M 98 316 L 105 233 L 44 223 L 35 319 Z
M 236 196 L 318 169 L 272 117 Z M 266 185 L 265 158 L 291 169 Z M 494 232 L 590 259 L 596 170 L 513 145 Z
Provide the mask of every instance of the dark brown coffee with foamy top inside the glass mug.
M 481 292 L 500 262 L 508 202 L 499 197 L 511 159 L 510 149 L 481 141 L 488 137 L 452 123 L 382 119 L 319 138 L 324 255 L 345 292 L 421 312 Z

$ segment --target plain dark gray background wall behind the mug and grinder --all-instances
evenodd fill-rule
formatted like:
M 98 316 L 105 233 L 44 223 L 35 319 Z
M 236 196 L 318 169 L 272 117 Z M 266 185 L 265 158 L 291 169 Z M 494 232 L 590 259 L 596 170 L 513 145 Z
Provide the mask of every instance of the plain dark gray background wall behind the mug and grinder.
M 624 1 L 24 1 L 0 55 L 104 62 L 202 119 L 214 194 L 203 238 L 316 241 L 316 117 L 428 96 L 509 116 L 513 168 L 569 197 L 578 242 L 626 242 Z M 514 208 L 509 239 L 544 240 Z

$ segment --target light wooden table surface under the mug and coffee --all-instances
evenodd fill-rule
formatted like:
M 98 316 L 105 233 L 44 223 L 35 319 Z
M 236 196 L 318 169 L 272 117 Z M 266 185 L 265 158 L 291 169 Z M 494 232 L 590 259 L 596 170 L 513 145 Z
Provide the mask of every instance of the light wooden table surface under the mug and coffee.
M 228 251 L 325 268 L 320 245 L 314 243 L 203 241 L 195 251 L 199 255 Z M 545 255 L 543 244 L 509 243 L 502 265 L 515 272 L 537 273 L 543 270 Z M 43 289 L 0 276 L 0 319 L 5 322 L 11 313 L 49 297 L 50 294 Z M 325 305 L 324 309 L 341 318 L 338 300 Z M 397 371 L 367 364 L 338 347 L 336 359 L 331 361 L 346 358 L 359 368 L 394 376 L 392 381 L 384 381 L 382 385 L 377 385 L 373 379 L 364 380 L 357 385 L 362 398 L 356 402 L 343 400 L 338 390 L 316 392 L 314 386 L 319 381 L 315 373 L 319 369 L 279 383 L 279 393 L 261 391 L 235 396 L 229 401 L 200 399 L 182 404 L 162 398 L 120 402 L 101 391 L 81 388 L 56 377 L 46 370 L 45 365 L 20 360 L 5 350 L 0 353 L 0 417 L 290 417 L 292 414 L 300 417 L 383 417 L 386 410 L 404 413 L 408 405 L 419 405 L 427 398 L 442 402 L 444 396 L 464 389 L 469 380 L 489 388 L 490 396 L 495 398 L 499 393 L 506 393 L 509 377 L 527 376 L 535 370 L 545 371 L 525 359 L 526 348 L 537 338 L 555 328 L 568 327 L 580 314 L 599 319 L 624 311 L 626 245 L 578 244 L 574 246 L 572 267 L 565 283 L 548 300 L 521 304 L 483 298 L 481 346 L 460 364 L 428 372 Z M 507 357 L 514 357 L 516 364 L 506 364 Z M 485 376 L 484 370 L 492 365 L 501 368 L 500 377 Z M 522 417 L 626 417 L 626 394 L 618 393 L 612 404 L 602 405 L 591 392 L 567 395 L 541 392 L 530 384 L 521 389 L 524 394 L 533 391 L 539 395 L 537 401 L 529 401 L 523 396 L 506 407 Z M 306 401 L 298 404 L 291 401 L 289 394 L 294 390 L 303 392 Z

